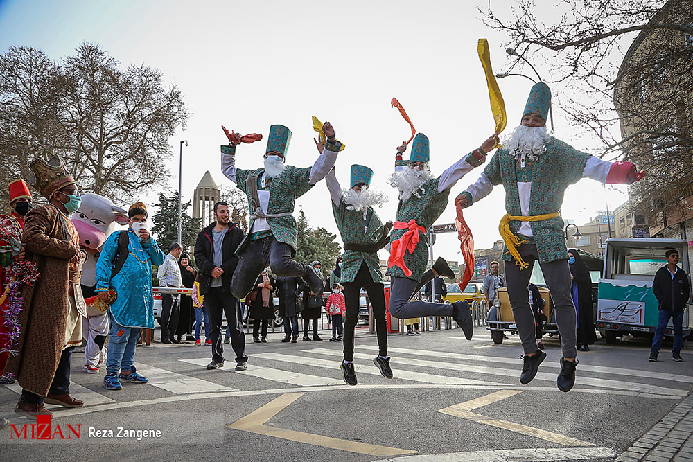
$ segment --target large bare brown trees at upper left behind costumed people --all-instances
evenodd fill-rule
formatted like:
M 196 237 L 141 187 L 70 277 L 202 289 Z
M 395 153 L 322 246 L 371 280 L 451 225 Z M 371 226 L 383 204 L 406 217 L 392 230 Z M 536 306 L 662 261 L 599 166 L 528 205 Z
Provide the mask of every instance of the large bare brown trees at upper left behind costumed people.
M 98 45 L 83 43 L 61 62 L 11 46 L 0 55 L 0 181 L 58 154 L 80 190 L 125 202 L 166 179 L 168 139 L 187 116 L 159 70 L 123 69 Z M 6 195 L 2 188 L 1 204 Z

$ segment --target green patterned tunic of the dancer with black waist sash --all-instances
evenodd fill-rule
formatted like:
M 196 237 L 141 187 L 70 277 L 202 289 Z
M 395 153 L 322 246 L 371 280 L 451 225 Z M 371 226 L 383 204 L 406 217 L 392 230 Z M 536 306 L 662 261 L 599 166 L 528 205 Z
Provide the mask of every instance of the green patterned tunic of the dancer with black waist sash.
M 332 211 L 335 214 L 335 222 L 340 230 L 344 244 L 375 244 L 383 229 L 378 214 L 369 207 L 364 218 L 363 211 L 349 210 L 349 205 L 340 201 L 339 206 L 332 203 Z M 374 283 L 383 283 L 383 273 L 380 272 L 380 259 L 378 252 L 359 252 L 347 250 L 342 260 L 342 283 L 353 283 L 356 273 L 365 262 L 371 273 Z

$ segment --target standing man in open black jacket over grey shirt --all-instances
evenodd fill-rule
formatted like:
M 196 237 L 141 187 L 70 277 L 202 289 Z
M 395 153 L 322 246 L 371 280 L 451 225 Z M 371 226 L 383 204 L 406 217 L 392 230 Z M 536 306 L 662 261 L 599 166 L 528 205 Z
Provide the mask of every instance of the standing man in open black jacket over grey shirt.
M 229 204 L 214 204 L 213 222 L 200 231 L 195 242 L 195 263 L 198 264 L 198 283 L 200 294 L 204 295 L 204 306 L 209 314 L 212 342 L 212 361 L 208 369 L 224 366 L 224 347 L 221 338 L 222 312 L 231 328 L 231 347 L 236 352 L 236 371 L 245 371 L 248 357 L 245 355 L 245 334 L 240 303 L 231 294 L 231 278 L 238 265 L 236 249 L 243 241 L 245 233 L 230 223 Z

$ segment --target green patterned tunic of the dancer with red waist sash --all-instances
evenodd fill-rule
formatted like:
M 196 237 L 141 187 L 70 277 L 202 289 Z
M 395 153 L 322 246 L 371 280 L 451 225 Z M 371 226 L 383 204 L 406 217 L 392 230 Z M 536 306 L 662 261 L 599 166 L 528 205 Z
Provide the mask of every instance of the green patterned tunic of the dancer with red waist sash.
M 424 229 L 429 229 L 448 205 L 450 188 L 439 193 L 439 181 L 440 177 L 426 181 L 416 190 L 416 194 L 421 197 L 412 195 L 404 202 L 400 202 L 397 210 L 397 221 L 406 223 L 413 218 Z M 390 242 L 392 243 L 401 238 L 406 231 L 406 229 L 393 229 L 392 233 L 390 233 Z M 404 256 L 404 263 L 412 272 L 412 275 L 408 278 L 414 279 L 414 281 L 421 281 L 421 276 L 426 271 L 426 263 L 428 263 L 428 237 L 426 237 L 426 234 L 419 231 L 419 245 L 414 249 L 414 254 L 410 254 L 407 251 Z M 403 270 L 398 266 L 388 268 L 386 274 L 390 277 L 407 278 Z

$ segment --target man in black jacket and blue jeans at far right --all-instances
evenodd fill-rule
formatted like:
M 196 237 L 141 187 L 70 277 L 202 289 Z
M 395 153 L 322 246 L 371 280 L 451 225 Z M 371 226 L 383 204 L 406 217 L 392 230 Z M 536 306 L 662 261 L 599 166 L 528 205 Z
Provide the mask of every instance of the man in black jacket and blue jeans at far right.
M 662 344 L 664 331 L 669 323 L 669 318 L 674 323 L 674 348 L 672 357 L 676 362 L 683 362 L 681 358 L 681 346 L 683 346 L 683 312 L 686 302 L 690 297 L 690 285 L 688 275 L 678 265 L 678 251 L 669 249 L 666 253 L 667 265 L 661 267 L 654 275 L 652 292 L 659 301 L 659 322 L 652 340 L 652 349 L 649 360 L 657 361 L 659 347 Z

